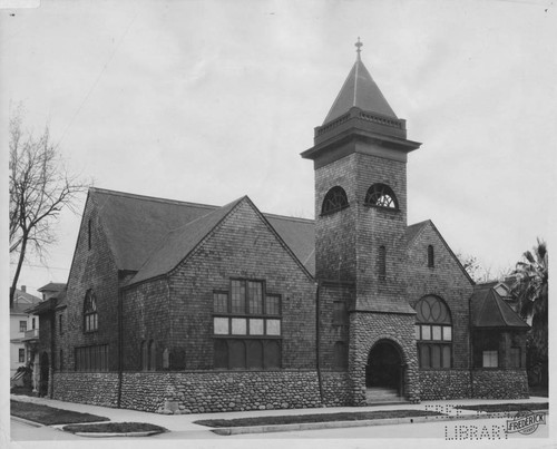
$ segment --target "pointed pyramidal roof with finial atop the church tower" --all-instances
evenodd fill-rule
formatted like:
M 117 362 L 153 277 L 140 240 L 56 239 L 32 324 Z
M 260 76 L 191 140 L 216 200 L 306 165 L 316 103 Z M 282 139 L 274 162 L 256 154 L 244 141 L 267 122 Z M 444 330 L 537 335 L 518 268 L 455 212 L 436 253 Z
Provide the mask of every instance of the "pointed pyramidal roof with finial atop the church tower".
M 341 91 L 336 96 L 331 110 L 326 115 L 323 125 L 346 114 L 350 108 L 354 106 L 365 111 L 381 114 L 390 118 L 398 118 L 362 62 L 360 53 L 363 43 L 360 41 L 360 38 L 358 38 L 354 46 L 356 47 L 356 60 Z

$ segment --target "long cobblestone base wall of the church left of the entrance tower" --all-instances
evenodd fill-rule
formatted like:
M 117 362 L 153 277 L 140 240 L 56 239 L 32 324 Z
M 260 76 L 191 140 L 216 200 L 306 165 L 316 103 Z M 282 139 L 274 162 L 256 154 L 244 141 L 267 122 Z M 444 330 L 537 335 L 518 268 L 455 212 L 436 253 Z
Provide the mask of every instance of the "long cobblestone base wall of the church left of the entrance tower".
M 117 373 L 56 373 L 53 399 L 118 406 Z M 303 409 L 350 404 L 345 372 L 316 371 L 128 372 L 121 408 L 156 413 Z M 87 385 L 87 388 L 84 388 Z

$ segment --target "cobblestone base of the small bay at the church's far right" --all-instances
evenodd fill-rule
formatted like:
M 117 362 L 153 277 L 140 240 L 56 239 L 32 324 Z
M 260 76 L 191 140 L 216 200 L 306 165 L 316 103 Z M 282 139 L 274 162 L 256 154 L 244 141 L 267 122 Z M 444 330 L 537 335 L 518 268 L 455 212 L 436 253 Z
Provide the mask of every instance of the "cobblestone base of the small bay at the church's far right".
M 472 371 L 472 397 L 481 399 L 529 398 L 525 369 Z

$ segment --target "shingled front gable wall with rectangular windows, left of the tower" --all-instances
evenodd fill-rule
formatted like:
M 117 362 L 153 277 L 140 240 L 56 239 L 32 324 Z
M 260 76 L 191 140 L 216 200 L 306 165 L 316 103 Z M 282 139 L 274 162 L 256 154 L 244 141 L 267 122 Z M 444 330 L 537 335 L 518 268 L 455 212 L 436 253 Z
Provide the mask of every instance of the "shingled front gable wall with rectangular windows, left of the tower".
M 169 273 L 168 284 L 172 340 L 186 345 L 186 369 L 313 367 L 313 280 L 247 197 Z M 252 303 L 253 291 L 261 302 Z M 254 336 L 262 359 L 251 359 Z M 247 359 L 236 358 L 238 348 Z

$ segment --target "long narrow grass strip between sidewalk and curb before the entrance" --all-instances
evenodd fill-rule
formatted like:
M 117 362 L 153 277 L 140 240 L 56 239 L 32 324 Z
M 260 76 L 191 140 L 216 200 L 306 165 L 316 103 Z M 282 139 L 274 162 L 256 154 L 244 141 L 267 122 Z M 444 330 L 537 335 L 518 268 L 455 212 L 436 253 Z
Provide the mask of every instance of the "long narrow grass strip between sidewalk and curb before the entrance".
M 248 426 L 272 426 L 272 424 L 301 424 L 307 422 L 331 422 L 331 421 L 361 421 L 367 419 L 388 418 L 414 418 L 442 416 L 443 413 L 429 410 L 375 410 L 342 413 L 315 413 L 277 417 L 253 417 L 236 419 L 203 419 L 194 421 L 196 424 L 207 427 L 248 427 Z

